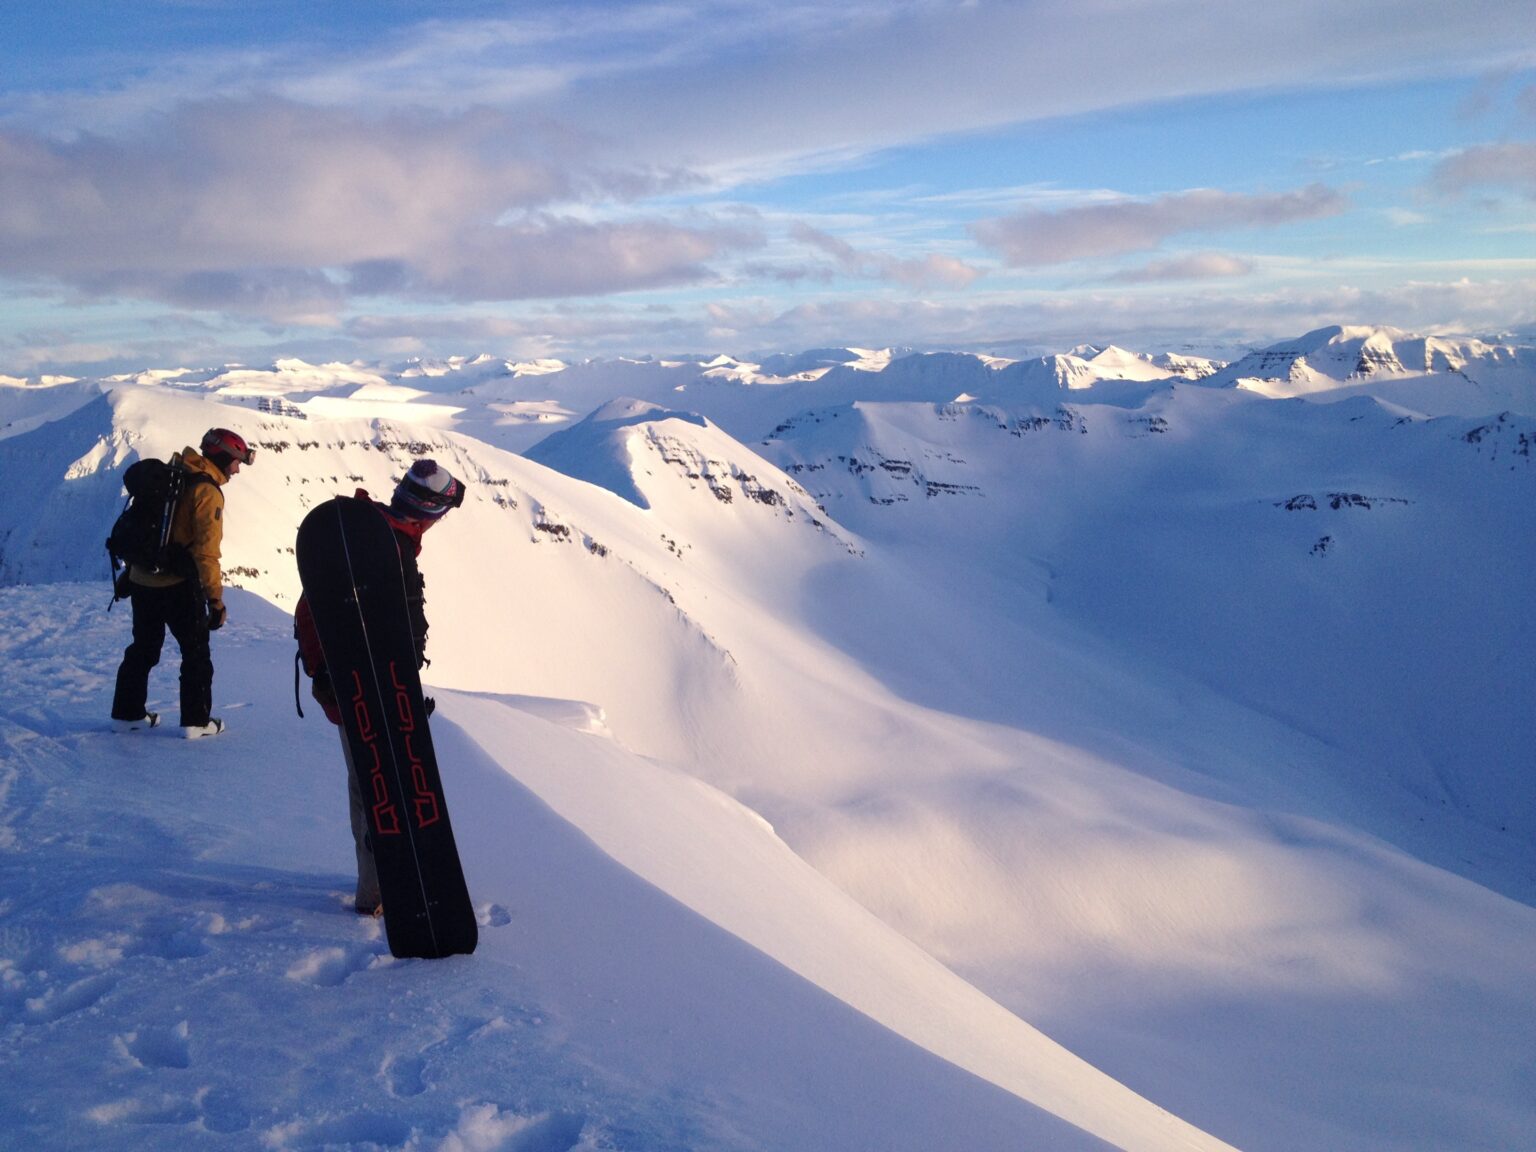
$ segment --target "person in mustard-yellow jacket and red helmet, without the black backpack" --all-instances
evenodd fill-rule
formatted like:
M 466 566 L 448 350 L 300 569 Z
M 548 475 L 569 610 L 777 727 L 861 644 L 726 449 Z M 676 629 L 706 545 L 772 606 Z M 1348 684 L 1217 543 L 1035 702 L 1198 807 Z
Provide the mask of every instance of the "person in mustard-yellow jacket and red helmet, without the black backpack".
M 224 722 L 214 710 L 214 656 L 209 633 L 224 627 L 223 485 L 255 459 L 255 450 L 229 429 L 209 429 L 198 452 L 181 450 L 190 475 L 170 521 L 170 544 L 183 554 L 177 571 L 152 573 L 129 565 L 127 593 L 134 605 L 134 642 L 123 651 L 112 694 L 112 722 L 121 730 L 154 728 L 160 714 L 147 710 L 149 673 L 160 664 L 166 628 L 181 648 L 181 734 L 217 736 Z

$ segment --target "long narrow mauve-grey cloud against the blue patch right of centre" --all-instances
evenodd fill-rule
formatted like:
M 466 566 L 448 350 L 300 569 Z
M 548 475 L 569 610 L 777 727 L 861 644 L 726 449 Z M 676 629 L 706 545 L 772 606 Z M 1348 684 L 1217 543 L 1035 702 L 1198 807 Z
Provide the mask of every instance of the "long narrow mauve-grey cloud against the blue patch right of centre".
M 1089 257 L 1144 252 L 1174 235 L 1273 227 L 1344 210 L 1344 197 L 1324 184 L 1276 195 L 1197 189 L 1157 200 L 1123 200 L 1057 212 L 1028 209 L 972 226 L 975 238 L 1012 267 L 1060 264 Z

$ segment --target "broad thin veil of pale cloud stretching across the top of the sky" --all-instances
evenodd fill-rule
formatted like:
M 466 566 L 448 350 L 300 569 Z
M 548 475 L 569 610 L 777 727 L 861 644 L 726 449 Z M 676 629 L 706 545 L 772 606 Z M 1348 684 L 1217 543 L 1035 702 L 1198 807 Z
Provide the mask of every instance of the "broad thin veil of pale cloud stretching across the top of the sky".
M 948 132 L 1192 95 L 1490 72 L 1528 65 L 1513 0 L 1359 0 L 1338 34 L 1324 0 L 1023 5 L 958 0 L 630 0 L 429 18 L 350 52 L 260 51 L 94 61 L 84 92 L 14 94 L 0 114 L 48 131 L 120 131 L 123 109 L 218 97 L 333 109 L 475 108 L 562 124 L 613 157 L 711 172 L 797 169 Z M 1192 61 L 1198 61 L 1198 66 Z M 1092 83 L 1084 83 L 1084 74 Z

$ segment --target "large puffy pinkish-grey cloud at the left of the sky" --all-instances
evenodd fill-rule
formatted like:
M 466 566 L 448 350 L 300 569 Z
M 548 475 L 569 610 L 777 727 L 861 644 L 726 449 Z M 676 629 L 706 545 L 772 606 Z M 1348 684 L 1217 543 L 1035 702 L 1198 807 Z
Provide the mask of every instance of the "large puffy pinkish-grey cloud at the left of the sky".
M 442 243 L 568 194 L 499 117 L 367 118 L 275 101 L 178 109 L 132 140 L 0 137 L 0 260 L 22 270 L 323 266 Z

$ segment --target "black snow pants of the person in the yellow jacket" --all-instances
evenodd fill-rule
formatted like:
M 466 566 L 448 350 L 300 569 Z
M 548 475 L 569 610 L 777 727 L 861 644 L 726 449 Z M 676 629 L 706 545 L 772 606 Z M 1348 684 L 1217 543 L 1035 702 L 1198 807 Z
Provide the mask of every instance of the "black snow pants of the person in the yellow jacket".
M 134 605 L 134 642 L 123 650 L 112 694 L 112 719 L 137 720 L 149 699 L 149 673 L 160 664 L 166 628 L 181 648 L 181 727 L 209 722 L 214 708 L 214 654 L 207 644 L 207 605 L 197 581 L 169 588 L 129 585 Z

